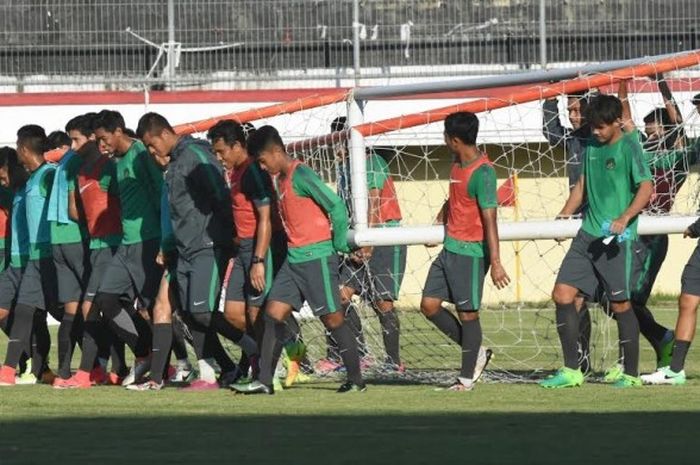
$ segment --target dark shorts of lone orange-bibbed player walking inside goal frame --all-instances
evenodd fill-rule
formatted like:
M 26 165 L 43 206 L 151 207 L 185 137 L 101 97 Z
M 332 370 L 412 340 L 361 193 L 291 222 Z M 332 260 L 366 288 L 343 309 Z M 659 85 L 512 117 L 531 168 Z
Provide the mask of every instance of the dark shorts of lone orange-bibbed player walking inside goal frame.
M 459 312 L 479 310 L 487 270 L 484 257 L 460 255 L 442 249 L 430 265 L 423 297 L 451 302 Z

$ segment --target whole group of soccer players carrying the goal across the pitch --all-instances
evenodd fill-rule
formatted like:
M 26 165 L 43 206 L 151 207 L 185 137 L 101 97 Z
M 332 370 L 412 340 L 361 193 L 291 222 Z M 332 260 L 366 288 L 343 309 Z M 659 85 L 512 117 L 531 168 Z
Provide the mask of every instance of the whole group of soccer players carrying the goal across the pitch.
M 700 249 L 683 273 L 674 332 L 646 306 L 668 237 L 637 235 L 638 215 L 670 210 L 700 152 L 700 143 L 683 133 L 662 79 L 660 88 L 666 105 L 645 118 L 645 136 L 631 123 L 624 83 L 620 98 L 570 96 L 573 131 L 559 123 L 556 101 L 544 104 L 545 135 L 564 143 L 568 157 L 571 193 L 559 216 L 583 216 L 553 291 L 564 367 L 544 387 L 578 386 L 590 370 L 587 301 L 601 303 L 618 325 L 620 364 L 608 381 L 685 382 L 700 304 Z M 345 124 L 338 118 L 331 129 L 344 131 Z M 453 157 L 449 197 L 437 214 L 445 240 L 420 306 L 461 347 L 459 376 L 447 388 L 453 391 L 473 389 L 491 356 L 479 322 L 486 274 L 498 289 L 510 281 L 500 260 L 496 173 L 478 149 L 478 129 L 472 113 L 445 120 Z M 8 335 L 0 386 L 121 384 L 150 391 L 171 380 L 187 390 L 273 394 L 285 343 L 301 340 L 293 312 L 306 304 L 327 333 L 328 355 L 316 370 L 344 369 L 338 392 L 361 392 L 367 351 L 352 304 L 358 294 L 381 323 L 383 368 L 404 371 L 394 302 L 406 247 L 348 243 L 345 143 L 335 147 L 336 194 L 286 151 L 272 126 L 255 130 L 224 120 L 207 138 L 178 134 L 157 113 L 145 114 L 134 133 L 118 112 L 103 110 L 71 119 L 65 133 L 23 126 L 17 148 L 0 149 L 0 325 Z M 387 163 L 371 150 L 366 158 L 369 225 L 396 227 L 402 216 Z M 700 236 L 700 224 L 686 236 Z M 56 373 L 48 366 L 47 314 L 60 322 Z M 640 330 L 658 367 L 641 378 Z M 238 363 L 220 337 L 240 347 Z M 76 345 L 81 357 L 73 373 Z M 134 357 L 130 370 L 125 347 Z

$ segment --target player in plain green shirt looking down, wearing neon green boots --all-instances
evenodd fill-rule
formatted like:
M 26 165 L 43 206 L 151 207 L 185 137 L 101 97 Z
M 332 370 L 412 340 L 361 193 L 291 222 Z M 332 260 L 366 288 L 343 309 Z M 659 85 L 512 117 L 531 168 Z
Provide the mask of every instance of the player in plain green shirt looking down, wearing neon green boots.
M 637 215 L 649 202 L 653 185 L 639 137 L 622 131 L 622 116 L 622 103 L 611 95 L 593 98 L 586 109 L 594 140 L 586 148 L 583 172 L 559 216 L 573 214 L 584 195 L 588 206 L 552 292 L 564 367 L 540 382 L 545 388 L 583 383 L 574 300 L 579 292 L 591 296 L 598 286 L 610 302 L 619 332 L 624 373 L 614 386 L 641 385 L 639 323 L 630 305 L 632 243 L 637 239 Z

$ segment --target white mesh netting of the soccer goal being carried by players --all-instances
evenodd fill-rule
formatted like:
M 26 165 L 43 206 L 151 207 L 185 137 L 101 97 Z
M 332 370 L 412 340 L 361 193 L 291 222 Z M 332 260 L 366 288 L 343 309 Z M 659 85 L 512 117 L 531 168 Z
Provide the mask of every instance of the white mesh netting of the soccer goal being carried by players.
M 643 118 L 654 109 L 663 108 L 664 100 L 654 78 L 634 73 L 628 77 L 632 78 L 628 84 L 628 101 L 634 125 L 644 132 Z M 675 148 L 685 147 L 687 155 L 693 138 L 700 132 L 697 111 L 692 104 L 692 97 L 700 86 L 693 71 L 673 70 L 666 74 L 665 79 L 682 116 L 682 122 L 676 126 L 681 127 L 685 134 L 685 141 L 679 142 Z M 595 80 L 591 79 L 590 82 Z M 533 89 L 537 89 L 537 86 L 528 88 L 527 92 L 532 93 Z M 584 91 L 616 93 L 617 84 L 599 89 L 591 86 Z M 547 120 L 543 117 L 543 100 L 532 98 L 521 102 L 512 96 L 494 97 L 502 94 L 493 89 L 485 90 L 484 96 L 498 102 L 499 105 L 495 106 L 502 108 L 483 111 L 478 115 L 480 148 L 488 154 L 498 175 L 499 219 L 505 222 L 551 220 L 568 196 L 567 153 L 564 141 L 547 141 L 543 125 L 549 123 L 550 126 L 570 130 L 566 95 L 555 96 L 558 102 L 556 113 Z M 416 100 L 415 107 L 429 102 Z M 402 111 L 405 112 L 405 106 L 400 107 L 390 101 L 370 101 L 364 107 L 365 121 L 404 116 L 409 120 L 410 115 L 402 116 Z M 286 142 L 295 142 L 328 134 L 331 122 L 345 114 L 345 103 L 337 102 L 269 118 L 246 119 L 253 120 L 256 126 L 271 124 L 280 130 Z M 443 118 L 437 117 L 429 124 L 375 132 L 365 138 L 366 148 L 381 156 L 389 166 L 401 206 L 403 225 L 430 225 L 447 197 L 451 156 L 442 144 Z M 338 156 L 342 151 L 339 148 L 344 146 L 345 142 L 342 141 L 311 143 L 305 148 L 293 150 L 293 155 L 309 164 L 330 186 L 337 188 L 338 173 L 346 163 Z M 663 150 L 657 152 L 657 157 L 667 155 Z M 673 207 L 670 211 L 657 209 L 651 214 L 688 215 L 696 211 L 700 184 L 691 165 L 692 160 L 685 156 L 670 169 L 656 171 L 655 182 L 659 184 L 659 189 L 660 183 L 666 183 L 664 189 L 670 190 Z M 674 248 L 683 247 L 682 244 L 674 245 L 673 241 L 676 240 L 680 239 L 672 240 L 670 253 L 675 253 Z M 541 371 L 562 364 L 550 293 L 569 244 L 570 241 L 557 242 L 552 239 L 501 243 L 502 262 L 513 282 L 507 289 L 499 291 L 487 276 L 484 286 L 481 312 L 483 344 L 495 354 L 489 365 L 487 380 L 527 382 Z M 686 250 L 687 247 L 688 243 L 685 244 Z M 396 302 L 401 325 L 401 357 L 407 367 L 406 374 L 401 375 L 404 380 L 434 382 L 454 377 L 460 365 L 459 348 L 428 322 L 419 310 L 428 268 L 439 251 L 440 247 L 408 247 L 405 276 Z M 684 262 L 687 253 L 681 257 L 680 260 Z M 674 279 L 667 278 L 665 273 L 676 277 L 679 271 L 662 268 L 659 276 L 663 290 L 677 292 L 677 285 L 667 284 Z M 362 321 L 365 368 L 370 376 L 392 379 L 396 375 L 383 369 L 385 351 L 382 329 L 371 305 L 370 291 L 369 288 L 361 289 L 352 304 Z M 592 307 L 591 317 L 591 362 L 595 370 L 602 371 L 617 360 L 617 327 L 605 311 L 597 310 L 595 306 Z M 301 322 L 307 358 L 313 364 L 326 357 L 325 331 L 307 309 L 302 309 L 297 318 Z M 647 349 L 643 357 L 653 357 L 653 353 Z

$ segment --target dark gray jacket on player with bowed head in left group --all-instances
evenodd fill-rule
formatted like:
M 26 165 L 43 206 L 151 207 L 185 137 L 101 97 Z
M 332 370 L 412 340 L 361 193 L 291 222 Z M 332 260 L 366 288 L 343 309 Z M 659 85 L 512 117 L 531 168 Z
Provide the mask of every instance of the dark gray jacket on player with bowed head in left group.
M 208 142 L 181 137 L 170 154 L 165 185 L 180 256 L 189 257 L 214 247 L 231 247 L 231 195 L 223 168 Z

